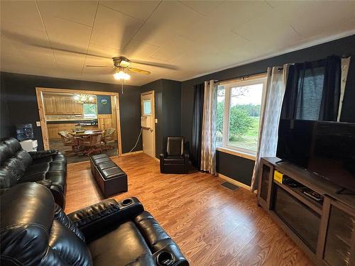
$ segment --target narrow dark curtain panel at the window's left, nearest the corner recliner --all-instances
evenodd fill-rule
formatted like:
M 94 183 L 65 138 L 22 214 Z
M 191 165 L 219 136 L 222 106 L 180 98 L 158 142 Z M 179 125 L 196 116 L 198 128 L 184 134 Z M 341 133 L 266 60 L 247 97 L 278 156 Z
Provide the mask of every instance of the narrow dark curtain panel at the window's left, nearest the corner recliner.
M 201 134 L 204 101 L 204 84 L 194 86 L 194 108 L 192 113 L 191 162 L 200 170 L 201 166 Z

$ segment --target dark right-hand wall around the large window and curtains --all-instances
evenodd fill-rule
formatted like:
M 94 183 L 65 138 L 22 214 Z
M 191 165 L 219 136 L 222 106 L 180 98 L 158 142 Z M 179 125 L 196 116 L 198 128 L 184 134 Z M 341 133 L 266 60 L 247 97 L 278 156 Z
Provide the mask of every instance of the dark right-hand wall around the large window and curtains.
M 193 86 L 209 79 L 234 79 L 249 74 L 258 74 L 266 72 L 267 67 L 283 65 L 288 62 L 305 62 L 318 60 L 328 55 L 353 55 L 355 56 L 355 35 L 346 38 L 334 40 L 329 43 L 315 45 L 310 48 L 288 52 L 266 60 L 253 62 L 248 65 L 230 68 L 202 77 L 190 79 L 182 82 L 181 91 L 181 134 L 191 140 L 192 137 L 192 107 L 193 107 Z M 344 121 L 355 122 L 355 58 L 349 67 L 349 74 L 346 84 L 346 93 L 343 101 L 342 119 Z M 253 172 L 252 160 L 247 160 L 234 155 L 226 155 L 217 152 L 217 170 L 221 174 L 236 179 L 244 184 L 250 184 L 251 174 Z

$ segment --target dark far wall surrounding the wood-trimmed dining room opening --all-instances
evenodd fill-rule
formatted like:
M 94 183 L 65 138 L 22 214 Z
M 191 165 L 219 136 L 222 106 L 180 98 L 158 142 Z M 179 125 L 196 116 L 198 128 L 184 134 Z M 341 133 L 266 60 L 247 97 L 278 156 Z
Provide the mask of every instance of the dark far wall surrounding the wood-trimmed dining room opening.
M 40 127 L 35 126 L 35 121 L 40 120 L 35 87 L 119 92 L 122 152 L 129 152 L 136 143 L 141 126 L 140 87 L 125 85 L 122 95 L 120 85 L 116 84 L 6 72 L 1 73 L 1 137 L 15 136 L 16 124 L 32 123 L 38 148 L 43 149 Z M 135 150 L 141 149 L 140 141 Z

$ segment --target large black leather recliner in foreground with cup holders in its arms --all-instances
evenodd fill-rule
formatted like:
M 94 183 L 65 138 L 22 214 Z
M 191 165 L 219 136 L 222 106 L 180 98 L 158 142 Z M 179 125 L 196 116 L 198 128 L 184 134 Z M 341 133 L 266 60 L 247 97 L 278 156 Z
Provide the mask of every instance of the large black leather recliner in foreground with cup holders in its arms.
M 138 199 L 107 199 L 66 215 L 33 182 L 0 197 L 1 265 L 188 266 Z

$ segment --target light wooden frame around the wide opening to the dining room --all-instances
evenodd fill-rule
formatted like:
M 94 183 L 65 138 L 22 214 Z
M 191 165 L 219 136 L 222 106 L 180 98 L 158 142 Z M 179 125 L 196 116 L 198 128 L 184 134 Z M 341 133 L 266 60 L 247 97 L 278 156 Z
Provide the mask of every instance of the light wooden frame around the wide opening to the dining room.
M 45 109 L 44 109 L 44 102 L 43 102 L 43 92 L 114 96 L 113 105 L 114 105 L 114 111 L 116 113 L 117 154 L 118 155 L 122 154 L 121 122 L 120 122 L 120 118 L 119 118 L 119 93 L 117 93 L 117 92 L 86 91 L 86 90 L 82 90 L 82 89 L 57 89 L 57 88 L 35 87 L 35 95 L 37 96 L 37 104 L 38 104 L 38 113 L 40 115 L 40 130 L 42 131 L 42 140 L 43 140 L 43 146 L 44 146 L 45 150 L 49 150 L 49 137 L 48 137 L 47 123 L 45 123 Z

